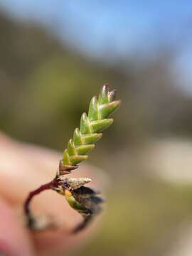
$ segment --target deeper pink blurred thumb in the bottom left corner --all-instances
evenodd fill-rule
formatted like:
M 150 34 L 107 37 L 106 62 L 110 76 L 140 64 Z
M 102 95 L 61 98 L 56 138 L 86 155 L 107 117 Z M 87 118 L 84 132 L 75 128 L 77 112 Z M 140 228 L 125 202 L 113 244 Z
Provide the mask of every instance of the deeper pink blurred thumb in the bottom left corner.
M 0 198 L 0 255 L 32 256 L 26 231 L 19 225 L 11 206 Z

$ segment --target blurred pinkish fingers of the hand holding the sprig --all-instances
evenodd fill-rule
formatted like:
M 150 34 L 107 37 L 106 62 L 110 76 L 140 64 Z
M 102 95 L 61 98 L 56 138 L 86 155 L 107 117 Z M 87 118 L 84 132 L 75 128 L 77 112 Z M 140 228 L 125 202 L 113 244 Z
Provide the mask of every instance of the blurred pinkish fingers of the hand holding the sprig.
M 60 158 L 56 151 L 16 142 L 0 133 L 0 252 L 14 256 L 53 255 L 55 251 L 77 248 L 90 237 L 94 223 L 77 235 L 70 234 L 81 216 L 55 191 L 36 196 L 31 209 L 58 228 L 41 232 L 26 228 L 23 202 L 30 191 L 53 179 Z M 90 177 L 97 184 L 102 181 L 100 170 L 85 165 L 70 175 Z

